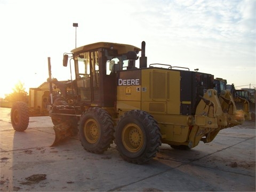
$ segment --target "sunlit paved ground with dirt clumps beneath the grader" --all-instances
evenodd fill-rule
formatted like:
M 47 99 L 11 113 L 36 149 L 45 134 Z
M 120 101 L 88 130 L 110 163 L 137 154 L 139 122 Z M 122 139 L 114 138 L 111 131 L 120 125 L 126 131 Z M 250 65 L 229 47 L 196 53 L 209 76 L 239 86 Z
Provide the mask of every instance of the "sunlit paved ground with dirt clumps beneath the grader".
M 255 191 L 255 120 L 191 150 L 163 144 L 144 165 L 123 161 L 114 143 L 91 154 L 76 137 L 51 147 L 54 138 L 50 117 L 16 132 L 0 108 L 1 191 Z

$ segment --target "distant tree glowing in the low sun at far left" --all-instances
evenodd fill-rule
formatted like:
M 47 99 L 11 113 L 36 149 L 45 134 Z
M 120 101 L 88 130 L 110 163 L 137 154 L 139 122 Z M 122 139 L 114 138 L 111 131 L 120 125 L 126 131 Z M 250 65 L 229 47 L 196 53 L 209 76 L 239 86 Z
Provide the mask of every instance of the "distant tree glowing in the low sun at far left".
M 5 95 L 7 101 L 24 101 L 28 102 L 28 93 L 25 91 L 24 83 L 20 81 L 12 89 L 12 93 Z

